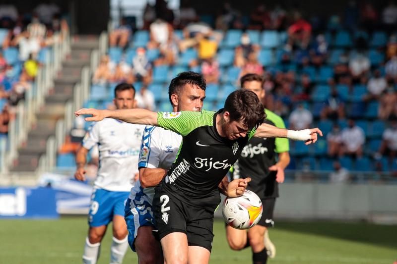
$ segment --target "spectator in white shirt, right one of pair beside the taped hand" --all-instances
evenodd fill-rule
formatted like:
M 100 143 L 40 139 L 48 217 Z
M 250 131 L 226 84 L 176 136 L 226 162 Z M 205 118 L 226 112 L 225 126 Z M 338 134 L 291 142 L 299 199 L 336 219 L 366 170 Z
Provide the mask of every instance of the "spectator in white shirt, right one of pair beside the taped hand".
M 356 126 L 353 119 L 348 120 L 348 127 L 342 130 L 342 147 L 339 156 L 349 155 L 354 158 L 363 156 L 365 133 L 363 129 Z

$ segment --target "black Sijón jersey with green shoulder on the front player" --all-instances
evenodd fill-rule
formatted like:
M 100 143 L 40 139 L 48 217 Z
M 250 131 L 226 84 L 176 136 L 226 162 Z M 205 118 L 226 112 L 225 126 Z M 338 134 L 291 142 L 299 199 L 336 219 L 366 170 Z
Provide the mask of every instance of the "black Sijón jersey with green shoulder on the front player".
M 216 130 L 218 112 L 159 112 L 159 126 L 183 136 L 178 156 L 162 182 L 162 188 L 194 206 L 214 210 L 220 202 L 218 185 L 255 134 L 229 140 Z

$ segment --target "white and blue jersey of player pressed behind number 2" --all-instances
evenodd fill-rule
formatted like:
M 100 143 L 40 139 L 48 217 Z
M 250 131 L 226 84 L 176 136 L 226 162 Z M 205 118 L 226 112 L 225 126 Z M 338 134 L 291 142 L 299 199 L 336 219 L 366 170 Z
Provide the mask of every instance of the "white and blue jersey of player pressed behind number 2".
M 175 161 L 182 136 L 156 126 L 146 126 L 142 136 L 138 167 L 169 169 Z M 130 199 L 152 205 L 154 187 L 142 188 L 137 181 L 131 189 Z

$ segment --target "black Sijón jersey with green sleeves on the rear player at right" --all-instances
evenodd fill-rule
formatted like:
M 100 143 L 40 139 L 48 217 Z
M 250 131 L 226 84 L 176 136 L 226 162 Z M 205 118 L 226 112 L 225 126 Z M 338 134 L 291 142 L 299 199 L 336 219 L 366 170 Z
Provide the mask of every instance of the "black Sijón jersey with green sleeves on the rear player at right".
M 265 123 L 285 128 L 281 117 L 267 109 L 265 112 Z M 286 138 L 252 138 L 233 165 L 233 178 L 251 177 L 247 189 L 260 198 L 278 197 L 276 171 L 268 168 L 276 163 L 276 153 L 288 151 L 289 142 Z

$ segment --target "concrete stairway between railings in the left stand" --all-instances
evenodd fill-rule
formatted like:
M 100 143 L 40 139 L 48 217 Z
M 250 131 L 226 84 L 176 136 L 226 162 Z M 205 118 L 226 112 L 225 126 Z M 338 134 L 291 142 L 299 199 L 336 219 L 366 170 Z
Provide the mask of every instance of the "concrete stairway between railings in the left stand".
M 57 74 L 44 106 L 36 113 L 37 122 L 18 149 L 18 158 L 14 160 L 11 171 L 36 170 L 40 156 L 46 152 L 48 138 L 55 135 L 58 119 L 65 116 L 66 102 L 73 98 L 74 85 L 80 81 L 81 70 L 90 65 L 91 51 L 98 46 L 97 36 L 73 37 L 71 53 L 63 61 L 62 70 Z

